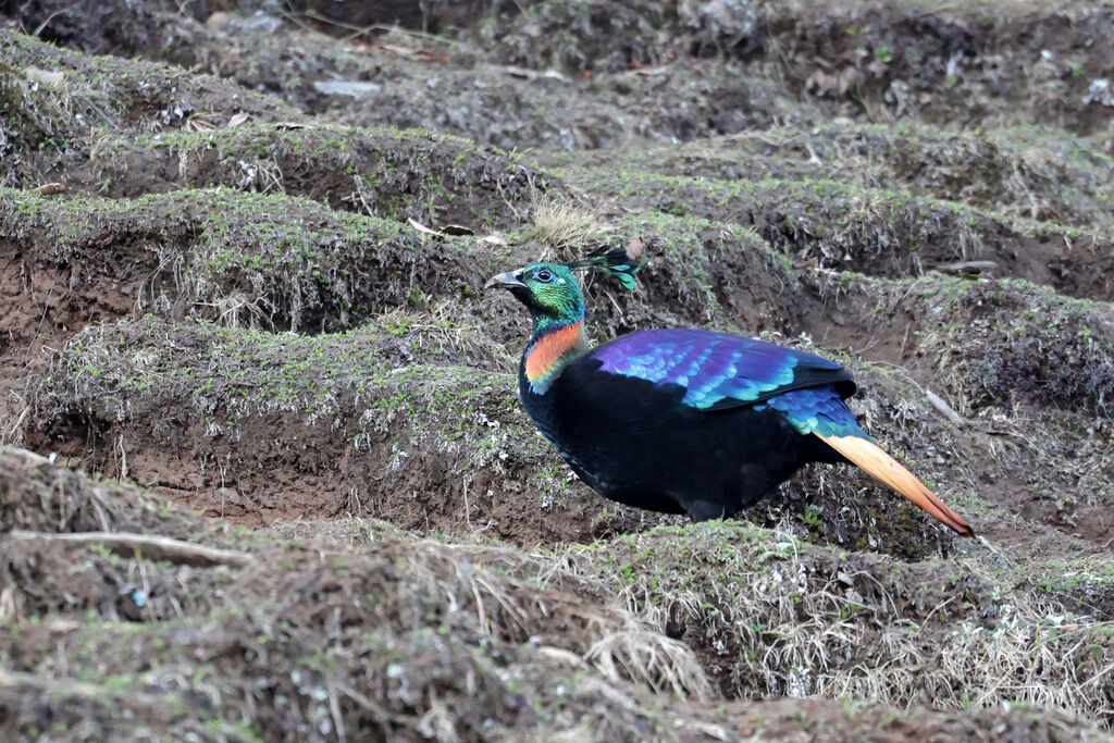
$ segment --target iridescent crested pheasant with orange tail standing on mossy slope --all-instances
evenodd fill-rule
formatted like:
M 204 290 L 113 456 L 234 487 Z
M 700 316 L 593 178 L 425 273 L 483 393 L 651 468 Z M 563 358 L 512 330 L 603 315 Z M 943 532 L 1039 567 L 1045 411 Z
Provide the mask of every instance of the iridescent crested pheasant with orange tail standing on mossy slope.
M 970 525 L 883 451 L 844 402 L 840 364 L 753 338 L 654 329 L 592 346 L 575 270 L 635 285 L 641 242 L 569 263 L 539 261 L 485 289 L 526 305 L 532 333 L 519 397 L 574 472 L 606 498 L 642 509 L 729 518 L 808 462 L 853 463 L 964 537 Z

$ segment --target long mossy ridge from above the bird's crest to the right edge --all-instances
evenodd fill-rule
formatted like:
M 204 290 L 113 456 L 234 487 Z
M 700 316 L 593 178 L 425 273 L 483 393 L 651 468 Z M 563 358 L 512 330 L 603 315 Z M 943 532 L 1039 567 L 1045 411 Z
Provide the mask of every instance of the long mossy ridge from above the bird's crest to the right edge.
M 560 170 L 627 209 L 754 229 L 798 267 L 872 276 L 928 272 L 1025 278 L 1068 295 L 1114 297 L 1114 243 L 1054 223 L 831 180 L 706 180 Z

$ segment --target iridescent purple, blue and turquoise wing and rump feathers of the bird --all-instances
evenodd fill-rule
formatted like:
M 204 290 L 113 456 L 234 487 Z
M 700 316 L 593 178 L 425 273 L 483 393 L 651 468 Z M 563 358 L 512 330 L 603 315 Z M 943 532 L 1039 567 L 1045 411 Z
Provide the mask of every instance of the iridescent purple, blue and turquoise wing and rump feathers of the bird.
M 761 403 L 802 433 L 861 434 L 843 398 L 851 375 L 833 361 L 752 338 L 701 330 L 647 330 L 589 352 L 600 371 L 684 388 L 700 410 Z

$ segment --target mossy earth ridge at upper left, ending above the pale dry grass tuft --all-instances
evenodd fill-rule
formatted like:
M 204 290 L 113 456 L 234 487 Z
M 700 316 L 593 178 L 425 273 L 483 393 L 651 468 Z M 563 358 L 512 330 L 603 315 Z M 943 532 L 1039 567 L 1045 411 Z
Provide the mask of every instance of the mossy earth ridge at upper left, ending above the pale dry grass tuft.
M 150 169 L 153 158 L 166 164 L 155 168 L 158 177 L 178 184 L 281 188 L 338 209 L 418 217 L 433 226 L 506 225 L 531 188 L 559 187 L 499 150 L 450 135 L 266 123 L 107 139 L 98 144 L 92 177 L 115 180 L 140 160 Z M 188 167 L 172 165 L 179 159 Z

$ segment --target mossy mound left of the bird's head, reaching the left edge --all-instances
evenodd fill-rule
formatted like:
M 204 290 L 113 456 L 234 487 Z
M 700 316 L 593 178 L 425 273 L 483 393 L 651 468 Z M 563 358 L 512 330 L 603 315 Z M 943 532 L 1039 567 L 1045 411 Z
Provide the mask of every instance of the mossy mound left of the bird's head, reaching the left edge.
M 278 213 L 285 218 L 275 219 Z M 472 237 L 432 243 L 394 222 L 227 188 L 135 199 L 0 189 L 0 235 L 43 244 L 41 262 L 88 261 L 92 272 L 133 251 L 146 265 L 133 280 L 139 309 L 275 329 L 339 330 L 385 306 L 412 304 L 407 274 L 432 262 L 448 268 L 424 290 L 443 301 L 479 283 L 508 250 Z M 468 273 L 468 266 L 483 268 Z M 123 270 L 139 273 L 135 264 Z

